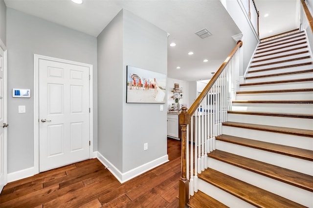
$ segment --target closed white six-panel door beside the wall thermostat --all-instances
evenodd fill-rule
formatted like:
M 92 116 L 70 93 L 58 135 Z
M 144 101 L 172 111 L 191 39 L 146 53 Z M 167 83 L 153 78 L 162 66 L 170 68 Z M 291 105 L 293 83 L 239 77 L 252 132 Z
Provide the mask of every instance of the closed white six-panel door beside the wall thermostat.
M 39 60 L 40 172 L 89 158 L 89 67 Z

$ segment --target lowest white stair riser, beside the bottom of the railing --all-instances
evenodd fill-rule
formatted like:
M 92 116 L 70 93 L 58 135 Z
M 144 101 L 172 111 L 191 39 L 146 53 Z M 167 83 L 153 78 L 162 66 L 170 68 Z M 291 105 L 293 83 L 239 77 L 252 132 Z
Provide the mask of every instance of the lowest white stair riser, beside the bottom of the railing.
M 201 179 L 198 180 L 199 190 L 201 190 L 206 195 L 211 196 L 212 198 L 223 203 L 230 208 L 255 208 L 249 203 L 231 195 L 230 193 L 225 192 L 224 190 L 215 187 Z

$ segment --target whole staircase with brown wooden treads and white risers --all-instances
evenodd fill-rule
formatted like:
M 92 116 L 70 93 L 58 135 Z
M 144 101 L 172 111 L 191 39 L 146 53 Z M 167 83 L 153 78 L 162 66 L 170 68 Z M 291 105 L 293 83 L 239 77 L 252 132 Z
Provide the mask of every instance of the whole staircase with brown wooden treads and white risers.
M 313 208 L 313 59 L 304 32 L 259 44 L 191 208 Z

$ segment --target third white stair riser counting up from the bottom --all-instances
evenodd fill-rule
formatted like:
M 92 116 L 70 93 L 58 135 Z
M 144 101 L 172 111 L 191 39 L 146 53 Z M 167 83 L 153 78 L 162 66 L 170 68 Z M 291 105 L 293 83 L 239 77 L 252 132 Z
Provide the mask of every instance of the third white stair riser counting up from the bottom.
M 254 149 L 246 146 L 235 145 L 227 142 L 216 141 L 216 149 L 258 160 L 274 166 L 280 166 L 308 175 L 313 175 L 313 162 L 289 157 L 282 154 Z

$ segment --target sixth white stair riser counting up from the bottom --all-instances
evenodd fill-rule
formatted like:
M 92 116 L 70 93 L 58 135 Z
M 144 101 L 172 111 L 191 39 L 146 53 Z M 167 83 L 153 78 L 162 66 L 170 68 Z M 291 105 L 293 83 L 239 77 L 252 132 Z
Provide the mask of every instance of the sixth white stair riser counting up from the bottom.
M 233 104 L 232 110 L 313 114 L 313 104 Z

